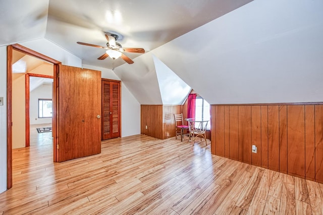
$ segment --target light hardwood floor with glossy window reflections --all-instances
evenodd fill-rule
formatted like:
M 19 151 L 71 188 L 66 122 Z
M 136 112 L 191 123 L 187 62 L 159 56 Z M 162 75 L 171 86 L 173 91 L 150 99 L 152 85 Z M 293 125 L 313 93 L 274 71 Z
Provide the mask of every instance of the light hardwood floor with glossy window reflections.
M 54 164 L 50 139 L 31 138 L 13 150 L 0 214 L 323 214 L 323 184 L 212 155 L 210 142 L 136 135 Z

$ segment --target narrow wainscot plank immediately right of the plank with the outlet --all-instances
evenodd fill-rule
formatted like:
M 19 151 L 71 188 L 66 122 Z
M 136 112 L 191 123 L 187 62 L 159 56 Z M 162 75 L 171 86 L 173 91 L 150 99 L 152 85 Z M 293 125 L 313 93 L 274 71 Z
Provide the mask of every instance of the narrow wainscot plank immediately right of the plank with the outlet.
M 268 106 L 261 105 L 261 167 L 268 169 Z

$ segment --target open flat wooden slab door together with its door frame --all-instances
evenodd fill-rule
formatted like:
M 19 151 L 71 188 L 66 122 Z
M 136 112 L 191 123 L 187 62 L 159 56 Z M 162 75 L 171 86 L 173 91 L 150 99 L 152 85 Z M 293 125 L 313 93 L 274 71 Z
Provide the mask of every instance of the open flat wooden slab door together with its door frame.
M 12 187 L 12 62 L 19 50 L 53 64 L 53 162 L 101 152 L 101 71 L 64 66 L 61 62 L 19 44 L 7 48 L 7 188 Z M 80 94 L 82 96 L 75 96 Z M 85 105 L 86 104 L 86 105 Z M 23 104 L 25 106 L 25 104 Z M 25 130 L 25 128 L 24 128 Z

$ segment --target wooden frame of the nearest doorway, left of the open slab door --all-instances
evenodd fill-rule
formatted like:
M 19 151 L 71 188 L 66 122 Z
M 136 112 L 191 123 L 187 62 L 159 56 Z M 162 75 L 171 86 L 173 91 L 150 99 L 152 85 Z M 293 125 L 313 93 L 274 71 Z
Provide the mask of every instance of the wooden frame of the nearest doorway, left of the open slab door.
M 17 50 L 25 53 L 26 55 L 33 56 L 35 58 L 39 58 L 41 60 L 52 63 L 53 66 L 53 81 L 54 86 L 57 86 L 57 74 L 59 74 L 59 65 L 62 63 L 49 58 L 41 53 L 31 50 L 27 47 L 24 47 L 20 44 L 12 44 L 7 46 L 7 189 L 12 188 L 12 61 L 13 61 L 13 50 Z M 56 126 L 57 122 L 57 92 L 53 91 L 53 162 L 57 160 L 57 135 L 56 135 Z M 54 128 L 55 126 L 55 128 Z

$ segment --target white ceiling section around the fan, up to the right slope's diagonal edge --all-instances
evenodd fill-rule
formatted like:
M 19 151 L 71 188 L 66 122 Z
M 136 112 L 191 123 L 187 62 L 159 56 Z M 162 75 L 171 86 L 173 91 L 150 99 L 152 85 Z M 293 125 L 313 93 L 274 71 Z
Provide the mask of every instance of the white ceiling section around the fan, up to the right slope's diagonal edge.
M 69 50 L 84 64 L 112 69 L 98 61 L 104 33 L 116 33 L 124 47 L 152 50 L 252 0 L 11 0 L 0 2 L 0 45 L 45 37 Z M 134 59 L 137 53 L 127 53 Z M 115 67 L 125 62 L 115 61 Z

